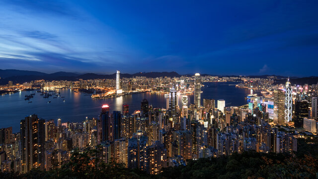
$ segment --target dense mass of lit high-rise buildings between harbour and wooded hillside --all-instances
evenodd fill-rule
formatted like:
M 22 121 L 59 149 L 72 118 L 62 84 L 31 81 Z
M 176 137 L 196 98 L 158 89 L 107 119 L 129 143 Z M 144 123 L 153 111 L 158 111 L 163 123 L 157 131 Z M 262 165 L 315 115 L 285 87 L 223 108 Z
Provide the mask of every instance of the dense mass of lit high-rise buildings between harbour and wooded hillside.
M 121 92 L 120 82 L 127 79 L 117 75 L 116 91 Z M 267 91 L 270 96 L 253 94 L 247 96 L 247 105 L 226 106 L 223 99 L 201 100 L 202 82 L 209 79 L 203 80 L 197 73 L 191 78 L 149 81 L 162 80 L 156 88 L 167 92 L 166 108 L 155 108 L 143 99 L 140 110 L 129 111 L 129 105 L 123 104 L 122 111 L 112 111 L 105 104 L 97 118 L 79 123 L 27 116 L 18 133 L 0 129 L 1 170 L 50 170 L 67 162 L 77 148 L 96 149 L 102 162 L 114 160 L 156 175 L 165 167 L 186 165 L 198 158 L 248 150 L 297 151 L 302 132 L 316 133 L 317 86 L 300 88 L 287 81 L 283 89 Z M 189 88 L 194 93 L 192 104 Z

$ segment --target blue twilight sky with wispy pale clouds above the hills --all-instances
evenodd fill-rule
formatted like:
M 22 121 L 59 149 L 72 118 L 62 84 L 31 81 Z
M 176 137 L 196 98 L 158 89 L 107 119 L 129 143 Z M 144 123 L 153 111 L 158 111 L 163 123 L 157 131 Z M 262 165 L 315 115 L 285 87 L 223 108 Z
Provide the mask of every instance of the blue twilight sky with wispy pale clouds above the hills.
M 0 0 L 0 69 L 318 75 L 318 0 Z

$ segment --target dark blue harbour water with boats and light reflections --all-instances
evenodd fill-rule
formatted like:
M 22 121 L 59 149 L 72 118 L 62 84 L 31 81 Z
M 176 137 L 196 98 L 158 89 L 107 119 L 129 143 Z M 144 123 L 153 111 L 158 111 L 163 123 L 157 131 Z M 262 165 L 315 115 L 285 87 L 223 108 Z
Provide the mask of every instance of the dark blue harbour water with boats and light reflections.
M 204 83 L 201 100 L 203 98 L 225 99 L 226 106 L 246 104 L 244 97 L 250 93 L 248 89 L 236 88 L 236 82 Z M 42 89 L 43 90 L 43 89 Z M 56 89 L 60 96 L 55 95 L 43 98 L 40 92 L 21 91 L 14 94 L 0 96 L 0 128 L 12 126 L 13 132 L 20 130 L 20 120 L 27 115 L 37 114 L 43 119 L 62 119 L 62 122 L 79 122 L 88 118 L 98 117 L 101 106 L 108 104 L 110 110 L 122 110 L 122 105 L 127 103 L 129 111 L 140 110 L 141 100 L 146 98 L 153 107 L 166 107 L 164 94 L 150 92 L 136 93 L 110 99 L 92 99 L 89 95 L 74 92 L 72 89 Z M 35 93 L 30 100 L 24 100 L 25 95 Z M 180 97 L 181 98 L 181 97 Z M 65 99 L 65 101 L 63 100 Z M 188 96 L 189 103 L 193 103 L 193 94 Z M 32 102 L 29 102 L 32 101 Z M 48 101 L 51 101 L 48 103 Z M 217 103 L 217 102 L 216 102 Z

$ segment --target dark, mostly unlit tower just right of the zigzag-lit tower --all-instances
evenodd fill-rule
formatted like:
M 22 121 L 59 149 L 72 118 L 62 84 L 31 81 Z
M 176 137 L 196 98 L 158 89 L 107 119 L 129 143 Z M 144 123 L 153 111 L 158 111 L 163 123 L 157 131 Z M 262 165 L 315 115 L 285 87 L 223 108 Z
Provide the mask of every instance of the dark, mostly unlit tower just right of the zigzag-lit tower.
M 294 125 L 295 127 L 303 127 L 304 117 L 308 117 L 309 103 L 307 100 L 295 101 Z

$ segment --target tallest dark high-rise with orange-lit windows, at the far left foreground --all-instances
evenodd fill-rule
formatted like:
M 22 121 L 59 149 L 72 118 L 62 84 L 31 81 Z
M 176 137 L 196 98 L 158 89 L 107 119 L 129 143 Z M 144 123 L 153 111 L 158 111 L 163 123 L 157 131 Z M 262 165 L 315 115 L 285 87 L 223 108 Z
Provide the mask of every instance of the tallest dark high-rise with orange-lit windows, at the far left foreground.
M 45 121 L 33 114 L 20 123 L 22 173 L 33 168 L 44 170 Z

